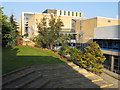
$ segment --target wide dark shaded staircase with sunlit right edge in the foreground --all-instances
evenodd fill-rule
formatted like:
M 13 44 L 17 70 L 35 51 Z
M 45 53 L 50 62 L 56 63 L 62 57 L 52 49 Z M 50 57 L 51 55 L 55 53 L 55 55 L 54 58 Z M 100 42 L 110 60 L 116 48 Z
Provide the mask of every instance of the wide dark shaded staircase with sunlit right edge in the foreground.
M 73 63 L 26 67 L 2 76 L 2 88 L 113 88 L 113 86 L 100 76 Z

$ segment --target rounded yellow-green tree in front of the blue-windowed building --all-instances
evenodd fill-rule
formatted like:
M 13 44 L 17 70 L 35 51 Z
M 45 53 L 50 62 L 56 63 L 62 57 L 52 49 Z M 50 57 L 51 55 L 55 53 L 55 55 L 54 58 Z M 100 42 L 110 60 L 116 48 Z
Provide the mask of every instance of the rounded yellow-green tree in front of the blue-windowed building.
M 90 44 L 90 46 L 84 49 L 84 54 L 82 57 L 82 62 L 80 64 L 94 73 L 102 73 L 103 65 L 105 61 L 105 56 L 103 56 L 99 45 L 96 42 Z

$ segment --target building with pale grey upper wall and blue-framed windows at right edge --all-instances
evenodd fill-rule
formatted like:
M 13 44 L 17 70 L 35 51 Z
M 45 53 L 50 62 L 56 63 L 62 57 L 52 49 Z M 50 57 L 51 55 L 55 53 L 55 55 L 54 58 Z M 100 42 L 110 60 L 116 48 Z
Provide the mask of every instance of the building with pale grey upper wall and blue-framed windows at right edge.
M 120 25 L 95 28 L 93 40 L 106 57 L 105 68 L 120 74 Z

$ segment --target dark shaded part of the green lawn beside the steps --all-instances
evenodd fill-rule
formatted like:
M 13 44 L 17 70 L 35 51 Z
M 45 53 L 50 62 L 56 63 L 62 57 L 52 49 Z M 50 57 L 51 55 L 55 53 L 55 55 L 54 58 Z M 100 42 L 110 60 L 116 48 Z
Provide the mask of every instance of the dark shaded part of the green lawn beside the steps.
M 3 48 L 2 51 L 2 72 L 3 74 L 13 70 L 41 64 L 59 64 L 65 63 L 60 58 L 53 56 L 21 55 L 17 56 L 19 48 Z

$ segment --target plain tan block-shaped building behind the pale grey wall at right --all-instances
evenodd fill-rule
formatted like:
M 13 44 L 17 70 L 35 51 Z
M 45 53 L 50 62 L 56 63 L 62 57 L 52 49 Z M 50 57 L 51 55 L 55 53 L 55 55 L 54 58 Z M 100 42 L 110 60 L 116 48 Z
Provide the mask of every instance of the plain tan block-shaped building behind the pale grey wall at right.
M 88 46 L 94 39 L 94 29 L 104 26 L 118 25 L 117 19 L 94 17 L 91 19 L 80 20 L 76 22 L 76 31 L 80 33 L 80 49 Z

